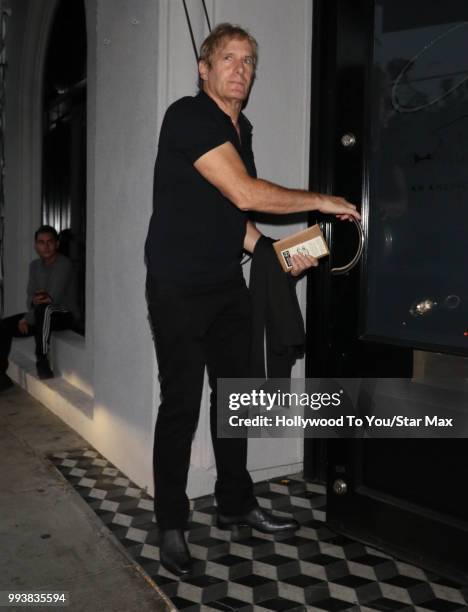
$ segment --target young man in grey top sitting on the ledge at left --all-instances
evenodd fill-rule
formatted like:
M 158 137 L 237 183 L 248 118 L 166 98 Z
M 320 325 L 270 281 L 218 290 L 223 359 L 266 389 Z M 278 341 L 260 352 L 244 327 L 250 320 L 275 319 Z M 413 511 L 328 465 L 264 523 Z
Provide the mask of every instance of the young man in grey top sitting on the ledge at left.
M 28 310 L 0 321 L 0 391 L 13 384 L 6 373 L 13 337 L 34 336 L 37 375 L 41 379 L 53 378 L 47 358 L 50 334 L 70 328 L 78 316 L 73 266 L 58 252 L 56 230 L 42 225 L 34 241 L 39 259 L 29 265 Z

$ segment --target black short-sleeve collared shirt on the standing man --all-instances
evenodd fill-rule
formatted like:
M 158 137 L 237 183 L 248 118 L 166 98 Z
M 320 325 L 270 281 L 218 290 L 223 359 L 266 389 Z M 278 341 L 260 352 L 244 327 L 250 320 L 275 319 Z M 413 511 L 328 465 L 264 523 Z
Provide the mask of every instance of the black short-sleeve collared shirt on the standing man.
M 154 171 L 153 215 L 145 254 L 151 276 L 178 285 L 224 282 L 240 274 L 247 214 L 195 169 L 211 149 L 231 142 L 256 177 L 252 126 L 232 121 L 204 92 L 181 98 L 164 117 Z

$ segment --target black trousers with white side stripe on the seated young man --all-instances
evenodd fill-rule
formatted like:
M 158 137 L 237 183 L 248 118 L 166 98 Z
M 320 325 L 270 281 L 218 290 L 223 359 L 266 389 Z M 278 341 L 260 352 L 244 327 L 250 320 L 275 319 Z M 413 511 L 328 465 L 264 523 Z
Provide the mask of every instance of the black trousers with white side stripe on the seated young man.
M 36 340 L 36 357 L 47 355 L 49 351 L 50 334 L 55 330 L 69 329 L 73 324 L 73 316 L 52 304 L 40 304 L 34 308 L 35 324 L 29 326 L 29 332 L 22 334 L 18 329 L 19 321 L 25 313 L 13 315 L 0 321 L 0 373 L 8 368 L 8 355 L 13 338 L 34 336 Z

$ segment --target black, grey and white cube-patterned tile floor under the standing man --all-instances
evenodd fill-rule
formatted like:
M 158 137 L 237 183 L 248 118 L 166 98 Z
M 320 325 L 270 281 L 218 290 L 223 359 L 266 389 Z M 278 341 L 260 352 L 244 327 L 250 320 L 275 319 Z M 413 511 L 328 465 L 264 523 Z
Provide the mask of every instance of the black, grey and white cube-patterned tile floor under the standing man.
M 468 610 L 466 588 L 330 531 L 324 487 L 300 475 L 255 485 L 262 507 L 300 522 L 294 534 L 219 530 L 213 496 L 193 500 L 187 536 L 195 570 L 179 580 L 159 563 L 153 500 L 145 491 L 94 450 L 49 459 L 178 610 Z

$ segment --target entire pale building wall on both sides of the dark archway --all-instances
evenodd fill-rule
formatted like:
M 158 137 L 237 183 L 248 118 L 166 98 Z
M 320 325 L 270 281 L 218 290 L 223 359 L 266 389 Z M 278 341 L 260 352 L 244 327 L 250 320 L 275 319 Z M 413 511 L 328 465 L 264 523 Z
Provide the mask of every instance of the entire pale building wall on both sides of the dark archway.
M 37 49 L 46 39 L 51 2 L 16 2 L 27 12 L 22 22 L 23 61 L 28 53 L 40 57 Z M 311 4 L 311 0 L 208 1 L 213 23 L 239 22 L 259 41 L 258 78 L 246 109 L 254 124 L 257 167 L 260 176 L 294 187 L 306 187 L 308 176 Z M 207 33 L 201 1 L 188 0 L 188 7 L 199 44 Z M 80 346 L 82 380 L 76 384 L 94 396 L 94 410 L 86 416 L 70 412 L 61 416 L 130 478 L 152 491 L 152 439 L 159 385 L 144 299 L 143 246 L 152 210 L 159 127 L 171 101 L 196 92 L 196 64 L 182 2 L 86 0 L 86 11 L 87 332 Z M 17 29 L 21 30 L 21 24 Z M 31 73 L 38 61 L 30 58 L 26 69 L 23 66 L 22 78 L 29 85 L 23 90 L 17 88 L 15 94 L 22 103 L 31 88 L 37 100 L 40 83 Z M 34 104 L 34 109 L 22 110 L 29 122 L 23 146 L 20 150 L 10 142 L 7 158 L 11 177 L 7 286 L 12 288 L 12 311 L 20 306 L 20 297 L 24 299 L 25 270 L 32 256 L 31 232 L 38 224 L 40 210 L 38 152 L 25 153 L 28 143 L 36 149 L 38 146 L 37 101 Z M 12 110 L 12 116 L 14 113 Z M 18 195 L 20 204 L 14 211 L 12 202 L 18 201 Z M 26 226 L 24 217 L 28 218 Z M 295 229 L 297 225 L 266 226 L 274 237 Z M 21 270 L 19 276 L 17 270 Z M 17 281 L 13 280 L 15 275 Z M 299 292 L 304 305 L 303 283 Z M 61 345 L 64 370 L 72 348 Z M 73 363 L 76 359 L 72 358 Z M 301 362 L 294 375 L 302 376 L 303 372 Z M 72 370 L 66 374 L 76 382 Z M 189 493 L 193 496 L 211 491 L 214 481 L 207 406 L 205 389 L 190 473 Z M 297 440 L 287 444 L 256 440 L 250 444 L 249 465 L 255 478 L 295 470 L 301 459 L 302 445 Z

